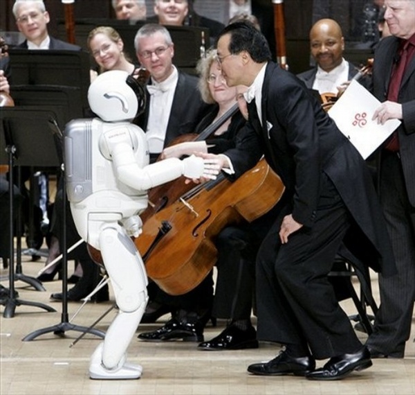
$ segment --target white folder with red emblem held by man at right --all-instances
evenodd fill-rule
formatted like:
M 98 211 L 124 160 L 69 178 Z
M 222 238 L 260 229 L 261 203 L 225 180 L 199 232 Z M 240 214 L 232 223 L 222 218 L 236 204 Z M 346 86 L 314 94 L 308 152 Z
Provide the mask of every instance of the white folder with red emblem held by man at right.
M 365 87 L 353 80 L 328 112 L 364 159 L 400 125 L 398 119 L 389 119 L 384 125 L 372 121 L 372 116 L 380 104 Z

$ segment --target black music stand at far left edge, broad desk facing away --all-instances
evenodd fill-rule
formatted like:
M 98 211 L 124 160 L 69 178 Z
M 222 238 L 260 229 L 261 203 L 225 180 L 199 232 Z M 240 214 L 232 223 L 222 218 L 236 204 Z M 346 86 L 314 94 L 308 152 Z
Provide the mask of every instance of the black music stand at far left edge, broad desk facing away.
M 46 121 L 55 116 L 53 112 L 39 109 L 25 109 L 24 107 L 3 107 L 1 109 L 0 123 L 0 146 L 3 152 L 8 154 L 9 166 L 9 199 L 10 199 L 10 266 L 9 266 L 9 296 L 2 299 L 1 304 L 5 307 L 3 317 L 11 318 L 15 315 L 16 306 L 28 305 L 44 308 L 47 311 L 56 311 L 46 304 L 24 301 L 15 295 L 15 280 L 25 281 L 30 285 L 42 287 L 39 280 L 28 277 L 15 269 L 15 247 L 13 243 L 14 229 L 14 207 L 13 207 L 13 171 L 14 166 L 29 166 L 30 164 L 41 164 L 42 166 L 57 166 L 56 150 L 50 144 L 50 138 L 44 136 Z M 51 150 L 53 148 L 53 150 Z M 42 155 L 39 155 L 42 152 Z M 5 164 L 3 156 L 0 157 Z M 18 235 L 19 236 L 19 235 Z M 15 272 L 16 270 L 16 272 Z M 43 288 L 43 287 L 42 287 Z M 41 290 L 42 290 L 41 288 Z M 44 290 L 44 288 L 43 288 Z

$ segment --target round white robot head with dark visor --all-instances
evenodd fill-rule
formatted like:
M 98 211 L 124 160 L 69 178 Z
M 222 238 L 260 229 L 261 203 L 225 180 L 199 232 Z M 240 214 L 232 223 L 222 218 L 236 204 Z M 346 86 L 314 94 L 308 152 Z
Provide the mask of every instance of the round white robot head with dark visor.
M 105 71 L 91 83 L 88 102 L 103 121 L 127 121 L 143 112 L 145 91 L 127 71 Z

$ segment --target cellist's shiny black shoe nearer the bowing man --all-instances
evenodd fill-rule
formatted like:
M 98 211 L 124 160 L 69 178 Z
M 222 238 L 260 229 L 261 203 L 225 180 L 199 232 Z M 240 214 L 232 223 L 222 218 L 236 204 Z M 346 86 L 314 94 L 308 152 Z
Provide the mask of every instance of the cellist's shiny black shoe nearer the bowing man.
M 253 326 L 242 331 L 237 326 L 230 325 L 209 342 L 199 344 L 198 348 L 213 351 L 257 349 L 257 331 Z

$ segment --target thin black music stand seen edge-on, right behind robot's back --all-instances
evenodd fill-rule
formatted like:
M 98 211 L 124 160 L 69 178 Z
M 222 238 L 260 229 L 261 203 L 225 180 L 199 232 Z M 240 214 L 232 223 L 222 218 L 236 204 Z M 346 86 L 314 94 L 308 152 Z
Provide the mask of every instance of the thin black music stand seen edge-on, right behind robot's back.
M 63 135 L 61 130 L 59 129 L 59 126 L 57 125 L 57 122 L 55 119 L 49 119 L 48 120 L 48 127 L 50 130 L 52 130 L 53 133 L 50 133 L 50 135 L 55 136 L 55 143 L 57 143 L 57 152 L 59 152 L 59 156 L 61 157 L 61 163 L 62 163 L 62 177 L 65 179 L 64 175 L 64 150 L 63 150 Z M 63 212 L 62 212 L 62 315 L 61 315 L 61 322 L 59 324 L 48 326 L 46 328 L 37 329 L 37 331 L 34 331 L 32 333 L 29 333 L 26 335 L 22 340 L 24 342 L 29 342 L 30 340 L 35 339 L 35 337 L 39 335 L 44 335 L 45 333 L 51 333 L 53 332 L 55 335 L 63 336 L 66 331 L 78 331 L 82 333 L 91 333 L 93 335 L 97 335 L 100 337 L 105 337 L 105 333 L 86 326 L 80 326 L 71 324 L 68 319 L 68 265 L 67 265 L 67 249 L 66 249 L 66 182 L 63 182 Z

